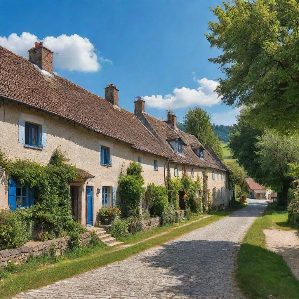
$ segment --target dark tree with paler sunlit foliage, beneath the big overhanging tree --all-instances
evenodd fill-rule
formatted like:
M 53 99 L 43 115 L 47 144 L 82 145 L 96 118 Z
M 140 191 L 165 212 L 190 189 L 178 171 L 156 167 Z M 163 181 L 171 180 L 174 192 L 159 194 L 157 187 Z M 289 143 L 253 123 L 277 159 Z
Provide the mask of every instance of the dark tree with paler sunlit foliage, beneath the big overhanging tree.
M 286 205 L 287 191 L 292 181 L 288 164 L 299 158 L 299 139 L 254 129 L 250 112 L 250 108 L 241 110 L 238 132 L 230 135 L 233 157 L 255 181 L 280 191 L 280 203 Z

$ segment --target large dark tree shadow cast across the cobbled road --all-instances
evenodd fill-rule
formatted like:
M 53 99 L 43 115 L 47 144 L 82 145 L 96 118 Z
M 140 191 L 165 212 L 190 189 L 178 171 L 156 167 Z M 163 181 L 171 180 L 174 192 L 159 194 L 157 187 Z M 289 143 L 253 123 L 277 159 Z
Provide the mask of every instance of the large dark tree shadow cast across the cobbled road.
M 242 298 L 234 287 L 233 278 L 239 246 L 225 241 L 173 241 L 163 245 L 159 254 L 149 252 L 142 261 L 149 267 L 166 270 L 164 275 L 173 281 L 173 285 L 163 288 L 167 294 L 192 298 Z

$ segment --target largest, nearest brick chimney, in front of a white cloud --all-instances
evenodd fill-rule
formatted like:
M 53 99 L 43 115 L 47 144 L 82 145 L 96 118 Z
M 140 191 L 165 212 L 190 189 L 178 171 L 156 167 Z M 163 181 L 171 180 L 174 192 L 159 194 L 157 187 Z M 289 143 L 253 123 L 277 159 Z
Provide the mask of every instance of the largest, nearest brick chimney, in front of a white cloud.
M 53 74 L 53 53 L 44 47 L 43 42 L 35 42 L 34 47 L 28 50 L 28 60 L 38 65 L 42 70 Z

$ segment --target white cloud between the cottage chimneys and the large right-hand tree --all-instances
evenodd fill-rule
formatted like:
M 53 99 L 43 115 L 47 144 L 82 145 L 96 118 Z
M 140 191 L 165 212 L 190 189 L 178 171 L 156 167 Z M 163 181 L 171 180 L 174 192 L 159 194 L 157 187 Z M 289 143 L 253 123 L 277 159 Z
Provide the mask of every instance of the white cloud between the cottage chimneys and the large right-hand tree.
M 194 75 L 194 74 L 193 74 Z M 217 97 L 216 86 L 217 81 L 208 80 L 207 78 L 196 79 L 199 84 L 198 89 L 190 89 L 187 87 L 175 88 L 173 94 L 144 96 L 145 103 L 153 108 L 158 109 L 176 109 L 188 106 L 213 106 L 219 103 L 221 98 Z

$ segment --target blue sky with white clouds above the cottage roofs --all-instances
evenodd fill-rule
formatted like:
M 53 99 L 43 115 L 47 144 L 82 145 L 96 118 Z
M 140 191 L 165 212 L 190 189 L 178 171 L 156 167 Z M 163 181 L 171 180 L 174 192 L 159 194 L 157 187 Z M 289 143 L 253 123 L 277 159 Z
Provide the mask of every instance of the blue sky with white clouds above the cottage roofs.
M 208 58 L 219 51 L 204 36 L 215 20 L 210 7 L 220 2 L 1 1 L 0 44 L 28 58 L 33 42 L 44 41 L 60 53 L 55 72 L 102 97 L 115 84 L 119 105 L 131 112 L 142 96 L 146 112 L 159 119 L 169 106 L 179 121 L 201 106 L 215 124 L 232 124 L 237 109 L 213 93 L 223 74 Z

